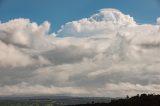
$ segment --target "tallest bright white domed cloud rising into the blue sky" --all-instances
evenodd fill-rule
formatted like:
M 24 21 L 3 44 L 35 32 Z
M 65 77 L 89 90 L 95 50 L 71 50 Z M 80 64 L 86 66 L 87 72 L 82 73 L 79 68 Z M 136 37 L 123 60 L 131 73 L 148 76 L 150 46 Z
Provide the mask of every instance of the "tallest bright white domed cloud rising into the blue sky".
M 116 31 L 120 27 L 134 26 L 136 22 L 129 15 L 116 9 L 102 9 L 98 14 L 79 21 L 66 23 L 58 31 L 58 36 L 99 36 Z

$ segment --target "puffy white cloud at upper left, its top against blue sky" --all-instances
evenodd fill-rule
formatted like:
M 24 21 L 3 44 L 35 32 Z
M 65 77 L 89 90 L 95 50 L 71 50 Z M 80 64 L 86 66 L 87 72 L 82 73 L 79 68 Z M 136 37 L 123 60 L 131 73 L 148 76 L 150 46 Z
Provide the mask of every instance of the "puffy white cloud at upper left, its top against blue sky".
M 19 47 L 40 48 L 46 43 L 44 36 L 48 33 L 49 27 L 47 21 L 38 26 L 29 19 L 14 19 L 0 24 L 0 39 L 6 44 Z

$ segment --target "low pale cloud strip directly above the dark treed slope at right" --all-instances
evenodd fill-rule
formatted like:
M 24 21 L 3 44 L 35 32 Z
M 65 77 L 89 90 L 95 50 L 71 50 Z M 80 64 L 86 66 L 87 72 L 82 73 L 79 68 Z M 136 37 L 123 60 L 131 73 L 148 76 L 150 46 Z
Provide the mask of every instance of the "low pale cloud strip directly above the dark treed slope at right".
M 141 85 L 141 84 L 131 84 L 131 83 L 118 83 L 118 84 L 106 84 L 104 89 L 99 89 L 99 91 L 106 92 L 108 95 L 116 97 L 117 95 L 128 94 L 134 96 L 135 94 L 141 93 L 155 93 L 158 94 L 160 85 L 150 84 L 150 85 Z

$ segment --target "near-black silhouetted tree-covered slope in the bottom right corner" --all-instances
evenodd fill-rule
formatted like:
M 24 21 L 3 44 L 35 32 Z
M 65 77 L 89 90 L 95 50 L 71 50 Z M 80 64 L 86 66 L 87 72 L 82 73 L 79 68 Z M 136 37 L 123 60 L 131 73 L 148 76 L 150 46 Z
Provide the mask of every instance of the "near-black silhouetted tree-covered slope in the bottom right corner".
M 160 106 L 160 95 L 141 94 L 125 99 L 112 100 L 110 103 L 89 103 L 72 106 Z

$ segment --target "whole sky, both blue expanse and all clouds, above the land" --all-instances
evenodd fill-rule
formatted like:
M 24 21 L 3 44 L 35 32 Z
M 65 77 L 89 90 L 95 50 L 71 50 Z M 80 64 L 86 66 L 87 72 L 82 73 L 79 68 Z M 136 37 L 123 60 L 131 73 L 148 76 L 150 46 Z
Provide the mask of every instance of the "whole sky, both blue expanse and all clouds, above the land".
M 22 1 L 0 1 L 0 96 L 160 92 L 158 0 Z

